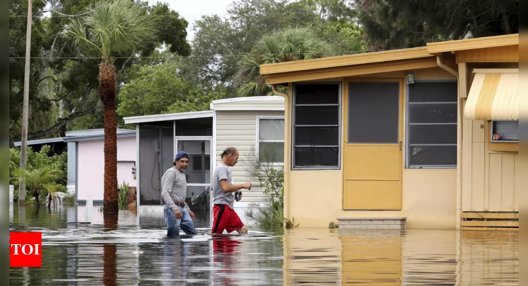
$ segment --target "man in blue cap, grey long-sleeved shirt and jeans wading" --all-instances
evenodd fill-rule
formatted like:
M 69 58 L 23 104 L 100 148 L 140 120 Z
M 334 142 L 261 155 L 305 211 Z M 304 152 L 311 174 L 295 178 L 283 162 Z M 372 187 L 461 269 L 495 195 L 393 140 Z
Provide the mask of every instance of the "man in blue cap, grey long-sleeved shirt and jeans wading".
M 180 228 L 189 235 L 197 233 L 192 221 L 194 220 L 194 213 L 185 203 L 187 179 L 184 172 L 188 166 L 189 154 L 183 151 L 178 152 L 174 161 L 174 168 L 167 170 L 162 177 L 167 236 L 180 235 Z

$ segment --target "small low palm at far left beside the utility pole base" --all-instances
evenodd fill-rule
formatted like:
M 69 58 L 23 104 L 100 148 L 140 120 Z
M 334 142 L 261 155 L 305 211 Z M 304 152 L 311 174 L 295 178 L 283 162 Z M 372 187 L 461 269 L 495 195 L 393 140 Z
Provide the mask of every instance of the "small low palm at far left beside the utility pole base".
M 55 180 L 57 179 L 57 176 L 53 174 L 49 167 L 43 167 L 42 169 L 34 169 L 31 171 L 18 169 L 13 172 L 13 177 L 18 180 L 19 183 L 26 183 L 26 188 L 30 191 L 30 194 L 35 197 L 37 208 L 40 206 L 40 191 L 48 193 L 50 196 L 50 204 L 48 205 L 48 208 L 51 206 L 51 201 L 56 197 L 55 192 L 57 191 L 57 188 L 55 186 Z

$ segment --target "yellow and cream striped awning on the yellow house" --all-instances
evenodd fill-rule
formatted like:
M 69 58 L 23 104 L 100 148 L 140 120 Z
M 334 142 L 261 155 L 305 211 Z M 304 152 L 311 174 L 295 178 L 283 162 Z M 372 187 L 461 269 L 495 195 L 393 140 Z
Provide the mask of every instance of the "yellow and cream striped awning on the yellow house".
M 475 70 L 464 110 L 467 120 L 519 120 L 519 70 Z

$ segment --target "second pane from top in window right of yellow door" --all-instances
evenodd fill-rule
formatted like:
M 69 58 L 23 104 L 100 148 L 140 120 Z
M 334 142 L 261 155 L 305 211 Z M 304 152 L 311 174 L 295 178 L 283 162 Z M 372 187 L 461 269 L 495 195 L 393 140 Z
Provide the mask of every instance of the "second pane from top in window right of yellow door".
M 457 123 L 457 104 L 409 104 L 410 123 Z

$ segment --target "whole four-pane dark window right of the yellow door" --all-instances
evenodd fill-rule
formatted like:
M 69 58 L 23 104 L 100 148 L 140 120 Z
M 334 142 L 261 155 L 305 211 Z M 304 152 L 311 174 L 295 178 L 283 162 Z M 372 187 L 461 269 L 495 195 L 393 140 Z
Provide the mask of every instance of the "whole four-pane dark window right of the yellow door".
M 456 81 L 408 85 L 407 167 L 456 168 Z

